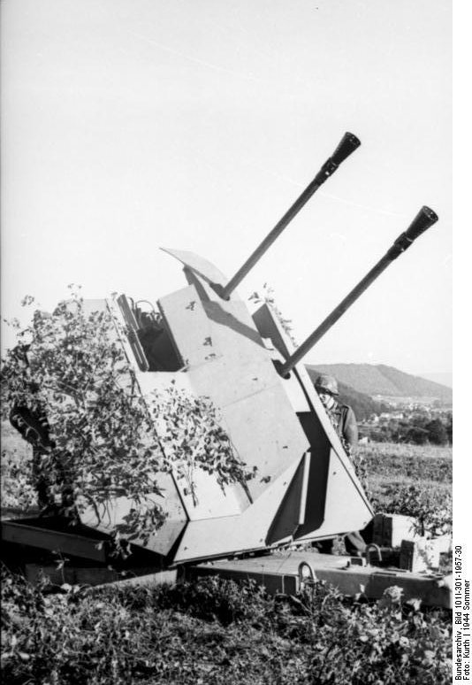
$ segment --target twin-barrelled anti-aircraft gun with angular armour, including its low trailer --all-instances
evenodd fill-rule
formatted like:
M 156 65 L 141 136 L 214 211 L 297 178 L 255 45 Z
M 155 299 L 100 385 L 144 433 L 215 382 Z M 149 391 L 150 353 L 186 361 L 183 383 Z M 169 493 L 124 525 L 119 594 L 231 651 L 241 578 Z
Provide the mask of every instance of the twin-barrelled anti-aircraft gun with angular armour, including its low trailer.
M 154 327 L 143 326 L 146 316 L 126 295 L 85 301 L 86 311 L 111 312 L 120 324 L 114 335 L 145 401 L 151 393 L 170 387 L 209 397 L 232 450 L 256 473 L 251 480 L 234 481 L 222 489 L 215 474 L 196 467 L 198 497 L 175 473 L 156 474 L 164 491 L 159 504 L 166 517 L 154 535 L 135 545 L 146 550 L 148 566 L 188 570 L 199 562 L 253 555 L 252 561 L 247 559 L 253 566 L 231 573 L 257 577 L 254 564 L 259 553 L 361 530 L 372 520 L 374 512 L 351 459 L 301 362 L 372 281 L 438 217 L 423 207 L 377 265 L 297 349 L 269 304 L 262 304 L 251 316 L 236 293 L 257 260 L 359 145 L 354 135 L 343 137 L 315 179 L 231 279 L 193 252 L 164 249 L 184 266 L 187 286 L 157 299 Z M 68 555 L 105 564 L 97 537 L 106 538 L 125 520 L 130 507 L 125 497 L 110 499 L 103 510 L 90 507 L 81 515 L 80 535 L 72 535 L 65 526 L 51 530 L 47 521 L 29 520 L 4 521 L 3 537 L 10 543 L 60 548 Z M 317 556 L 332 566 L 333 558 Z M 279 573 L 283 591 L 296 589 L 295 576 L 304 558 L 295 558 L 295 571 Z M 271 573 L 269 558 L 264 559 L 267 583 Z M 198 566 L 199 573 L 212 573 L 212 568 L 225 573 L 225 563 Z M 280 558 L 277 564 L 281 566 Z M 308 570 L 313 575 L 312 566 Z M 316 574 L 320 573 L 323 576 L 318 569 Z M 444 597 L 438 600 L 441 591 L 436 585 L 428 592 L 436 597 L 433 603 L 447 603 Z

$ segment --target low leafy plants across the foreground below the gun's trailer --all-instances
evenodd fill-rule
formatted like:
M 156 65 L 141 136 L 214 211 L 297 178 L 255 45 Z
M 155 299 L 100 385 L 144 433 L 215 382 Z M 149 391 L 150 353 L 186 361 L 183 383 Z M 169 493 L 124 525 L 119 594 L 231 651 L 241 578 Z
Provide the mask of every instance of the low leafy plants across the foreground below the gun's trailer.
M 451 678 L 447 612 L 346 601 L 323 584 L 266 596 L 217 578 L 175 587 L 62 594 L 4 574 L 4 682 L 69 685 L 330 683 L 442 685 Z

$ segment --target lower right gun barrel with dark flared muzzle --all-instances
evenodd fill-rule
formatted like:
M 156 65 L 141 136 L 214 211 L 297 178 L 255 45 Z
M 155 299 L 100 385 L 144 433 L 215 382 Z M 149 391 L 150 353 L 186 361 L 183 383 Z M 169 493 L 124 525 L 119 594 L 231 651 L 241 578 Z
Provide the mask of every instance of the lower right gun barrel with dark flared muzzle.
M 301 343 L 301 346 L 293 352 L 293 355 L 289 357 L 285 364 L 278 366 L 278 373 L 282 377 L 287 376 L 293 369 L 293 366 L 298 364 L 303 357 L 316 345 L 316 342 L 324 336 L 324 334 L 329 331 L 331 326 L 336 323 L 338 319 L 346 312 L 347 309 L 354 304 L 358 297 L 362 295 L 364 290 L 369 288 L 369 285 L 377 279 L 377 277 L 392 264 L 392 261 L 400 256 L 402 252 L 407 250 L 407 248 L 416 240 L 419 235 L 422 235 L 429 227 L 438 221 L 438 215 L 433 212 L 430 207 L 422 207 L 420 212 L 415 216 L 410 226 L 407 228 L 405 233 L 399 235 L 397 240 L 393 242 L 392 247 L 384 254 L 376 266 L 373 266 L 369 273 L 367 273 L 362 281 L 360 281 L 351 292 L 346 295 L 344 300 L 338 304 L 335 309 L 329 314 L 326 319 L 316 328 L 311 335 L 308 336 L 307 340 Z

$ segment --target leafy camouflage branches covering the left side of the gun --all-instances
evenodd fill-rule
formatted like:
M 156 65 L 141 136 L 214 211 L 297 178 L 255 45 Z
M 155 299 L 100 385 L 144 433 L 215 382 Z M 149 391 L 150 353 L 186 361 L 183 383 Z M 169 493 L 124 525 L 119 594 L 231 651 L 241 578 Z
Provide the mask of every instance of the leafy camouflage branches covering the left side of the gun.
M 14 415 L 33 445 L 44 509 L 78 520 L 88 506 L 106 511 L 124 496 L 130 511 L 112 535 L 145 542 L 166 516 L 156 502 L 159 473 L 185 479 L 194 503 L 197 468 L 215 473 L 222 489 L 254 473 L 234 456 L 209 398 L 172 386 L 147 402 L 136 392 L 116 320 L 108 311 L 87 314 L 79 290 L 71 291 L 52 314 L 35 311 L 25 330 L 13 322 L 18 344 L 1 372 L 4 417 Z

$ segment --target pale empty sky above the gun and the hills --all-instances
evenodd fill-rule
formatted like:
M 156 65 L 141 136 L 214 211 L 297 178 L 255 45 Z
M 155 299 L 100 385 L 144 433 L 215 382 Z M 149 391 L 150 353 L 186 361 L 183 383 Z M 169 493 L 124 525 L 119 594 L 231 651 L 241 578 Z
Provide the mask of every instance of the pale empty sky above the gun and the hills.
M 423 204 L 438 224 L 308 355 L 452 370 L 452 17 L 445 0 L 4 0 L 2 312 L 232 276 L 343 133 L 362 147 L 240 285 L 298 342 Z M 4 345 L 11 343 L 4 334 Z

